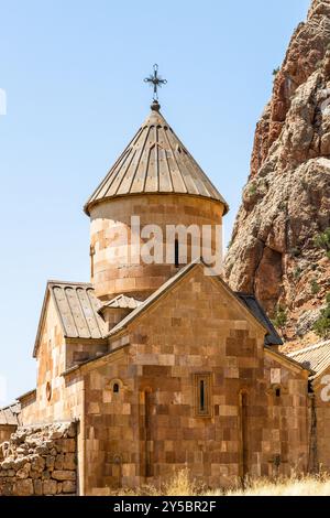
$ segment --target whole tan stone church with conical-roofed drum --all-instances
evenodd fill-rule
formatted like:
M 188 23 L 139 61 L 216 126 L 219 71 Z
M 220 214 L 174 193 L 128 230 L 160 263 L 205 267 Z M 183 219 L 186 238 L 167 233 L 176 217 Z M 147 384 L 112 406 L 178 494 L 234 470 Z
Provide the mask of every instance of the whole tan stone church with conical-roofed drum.
M 132 265 L 135 245 L 113 239 L 132 234 L 132 215 L 201 228 L 228 211 L 154 101 L 85 205 L 90 282 L 46 285 L 36 388 L 0 411 L 0 441 L 18 427 L 75 422 L 80 495 L 160 485 L 185 467 L 209 487 L 330 467 L 322 345 L 280 354 L 253 293 L 206 276 L 177 240 L 173 263 Z

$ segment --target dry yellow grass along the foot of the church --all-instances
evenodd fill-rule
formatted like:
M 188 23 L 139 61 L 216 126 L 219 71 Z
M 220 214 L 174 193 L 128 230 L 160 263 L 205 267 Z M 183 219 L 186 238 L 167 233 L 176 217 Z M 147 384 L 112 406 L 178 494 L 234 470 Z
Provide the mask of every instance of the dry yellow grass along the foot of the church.
M 330 496 L 330 476 L 292 476 L 270 482 L 260 478 L 246 483 L 245 489 L 208 490 L 189 477 L 188 470 L 179 471 L 162 489 L 146 486 L 136 492 L 120 492 L 121 496 Z

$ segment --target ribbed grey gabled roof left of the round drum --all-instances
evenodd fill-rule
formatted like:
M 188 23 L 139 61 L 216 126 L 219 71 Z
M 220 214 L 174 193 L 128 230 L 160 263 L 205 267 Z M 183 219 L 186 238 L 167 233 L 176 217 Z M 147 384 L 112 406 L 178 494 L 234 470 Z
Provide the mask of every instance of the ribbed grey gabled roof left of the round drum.
M 37 352 L 50 296 L 55 304 L 65 338 L 101 339 L 105 337 L 107 325 L 98 313 L 101 302 L 95 296 L 91 284 L 48 281 L 33 356 Z

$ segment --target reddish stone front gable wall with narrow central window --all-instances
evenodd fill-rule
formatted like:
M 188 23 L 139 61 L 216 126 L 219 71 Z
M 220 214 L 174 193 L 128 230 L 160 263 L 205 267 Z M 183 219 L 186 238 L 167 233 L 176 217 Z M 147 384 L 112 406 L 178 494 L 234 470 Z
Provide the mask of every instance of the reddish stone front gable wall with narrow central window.
M 87 492 L 160 484 L 185 466 L 210 487 L 307 471 L 308 375 L 266 352 L 264 334 L 196 267 L 124 341 L 114 337 L 108 361 L 86 367 Z M 210 379 L 207 416 L 196 408 L 196 375 Z

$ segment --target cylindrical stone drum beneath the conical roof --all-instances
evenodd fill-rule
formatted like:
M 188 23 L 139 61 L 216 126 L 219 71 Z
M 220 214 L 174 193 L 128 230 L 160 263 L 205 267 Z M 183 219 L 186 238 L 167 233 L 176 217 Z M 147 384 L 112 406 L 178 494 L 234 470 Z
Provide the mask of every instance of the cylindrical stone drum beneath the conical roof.
M 131 257 L 139 256 L 139 248 L 144 242 L 140 239 L 140 246 L 132 242 L 127 246 L 127 236 L 131 239 L 132 215 L 140 217 L 141 229 L 151 222 L 158 225 L 165 245 L 167 225 L 197 225 L 201 229 L 204 225 L 221 225 L 222 213 L 221 203 L 190 195 L 170 194 L 128 196 L 92 207 L 90 233 L 95 255 L 91 282 L 96 295 L 101 300 L 110 300 L 125 293 L 144 300 L 177 271 L 174 265 L 165 262 L 165 253 L 162 263 L 146 265 L 138 261 L 136 265 L 128 265 L 128 251 Z M 213 231 L 211 244 L 213 251 L 215 234 Z M 180 255 L 185 239 L 178 239 Z M 191 246 L 189 239 L 187 241 L 187 260 L 180 256 L 184 263 L 191 259 Z

